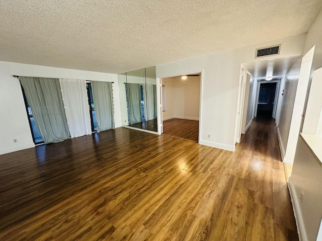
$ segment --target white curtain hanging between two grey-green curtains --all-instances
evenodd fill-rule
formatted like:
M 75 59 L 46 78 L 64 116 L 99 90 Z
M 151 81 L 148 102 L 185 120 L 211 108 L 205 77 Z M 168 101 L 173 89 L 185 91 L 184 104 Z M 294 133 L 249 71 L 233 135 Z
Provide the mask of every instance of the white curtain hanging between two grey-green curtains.
M 59 83 L 70 137 L 91 135 L 91 116 L 86 80 L 60 79 Z

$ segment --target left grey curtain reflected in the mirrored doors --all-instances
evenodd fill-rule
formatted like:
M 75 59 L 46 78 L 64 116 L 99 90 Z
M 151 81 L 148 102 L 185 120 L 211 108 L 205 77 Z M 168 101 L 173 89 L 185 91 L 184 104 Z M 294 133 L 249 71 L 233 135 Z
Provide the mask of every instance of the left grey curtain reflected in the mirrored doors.
M 126 84 L 130 125 L 142 122 L 140 84 Z

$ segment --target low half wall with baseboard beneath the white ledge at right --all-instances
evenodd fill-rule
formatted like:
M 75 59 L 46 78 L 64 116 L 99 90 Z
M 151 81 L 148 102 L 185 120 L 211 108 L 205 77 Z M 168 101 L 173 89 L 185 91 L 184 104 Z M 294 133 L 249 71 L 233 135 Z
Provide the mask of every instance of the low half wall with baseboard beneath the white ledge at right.
M 289 189 L 300 240 L 316 240 L 322 215 L 321 183 L 322 163 L 299 137 Z

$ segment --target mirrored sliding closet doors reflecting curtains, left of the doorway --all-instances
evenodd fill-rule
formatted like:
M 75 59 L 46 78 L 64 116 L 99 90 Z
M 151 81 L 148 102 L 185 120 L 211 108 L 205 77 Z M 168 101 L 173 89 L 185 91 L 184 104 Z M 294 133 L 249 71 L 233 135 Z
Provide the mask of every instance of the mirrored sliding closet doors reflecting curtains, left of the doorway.
M 155 66 L 118 78 L 123 126 L 157 132 Z

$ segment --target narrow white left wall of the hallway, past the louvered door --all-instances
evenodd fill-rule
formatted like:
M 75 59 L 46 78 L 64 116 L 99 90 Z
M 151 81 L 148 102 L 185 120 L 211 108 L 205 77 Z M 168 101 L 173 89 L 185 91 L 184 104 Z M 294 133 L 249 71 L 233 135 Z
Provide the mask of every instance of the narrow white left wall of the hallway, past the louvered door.
M 256 94 L 256 80 L 254 75 L 247 74 L 245 104 L 243 111 L 243 126 L 241 127 L 241 133 L 245 134 L 252 124 L 254 113 L 254 100 Z

